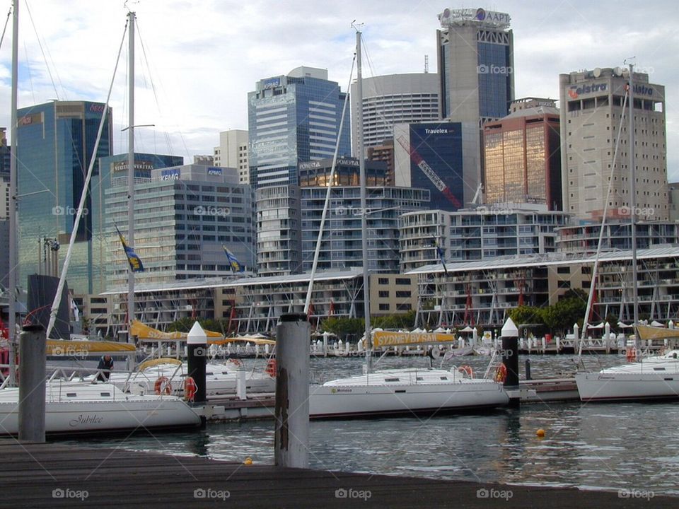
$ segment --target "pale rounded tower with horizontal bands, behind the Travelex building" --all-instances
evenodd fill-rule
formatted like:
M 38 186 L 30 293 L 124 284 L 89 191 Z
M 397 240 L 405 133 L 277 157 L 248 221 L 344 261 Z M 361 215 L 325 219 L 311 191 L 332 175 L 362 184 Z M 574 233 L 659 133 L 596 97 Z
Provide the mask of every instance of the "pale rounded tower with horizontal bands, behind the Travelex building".
M 352 83 L 352 141 L 358 157 L 356 83 Z M 395 124 L 439 119 L 439 76 L 429 73 L 390 74 L 363 80 L 364 156 L 368 148 L 393 139 Z

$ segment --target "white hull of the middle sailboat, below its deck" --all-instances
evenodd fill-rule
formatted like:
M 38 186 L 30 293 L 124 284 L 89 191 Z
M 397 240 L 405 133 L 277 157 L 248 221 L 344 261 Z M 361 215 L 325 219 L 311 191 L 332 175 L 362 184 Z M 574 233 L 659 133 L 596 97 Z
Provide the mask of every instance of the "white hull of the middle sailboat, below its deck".
M 509 403 L 500 384 L 487 380 L 403 385 L 311 387 L 311 419 L 444 414 L 493 409 Z

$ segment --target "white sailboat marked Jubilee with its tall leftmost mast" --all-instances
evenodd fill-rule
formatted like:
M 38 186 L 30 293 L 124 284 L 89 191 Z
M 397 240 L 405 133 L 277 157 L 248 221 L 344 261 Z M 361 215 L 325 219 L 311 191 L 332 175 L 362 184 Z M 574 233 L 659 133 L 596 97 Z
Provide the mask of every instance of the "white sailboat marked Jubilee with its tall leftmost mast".
M 17 33 L 18 33 L 18 2 L 14 3 L 14 20 L 13 20 L 13 55 L 12 55 L 12 151 L 16 151 L 16 118 L 17 118 L 17 79 L 18 74 L 18 52 L 17 52 Z M 134 12 L 129 12 L 130 25 L 130 45 L 132 46 L 134 40 Z M 134 64 L 134 59 L 130 58 L 130 66 Z M 107 100 L 108 104 L 108 100 Z M 108 109 L 108 107 L 107 107 Z M 103 117 L 105 117 L 106 110 Z M 100 128 L 101 131 L 101 128 Z M 83 194 L 81 196 L 81 203 L 79 206 L 78 215 L 76 216 L 76 223 L 71 234 L 70 245 L 73 245 L 74 237 L 78 229 L 77 221 L 79 221 L 83 203 L 86 197 L 89 178 L 91 177 L 94 158 L 91 161 L 86 177 L 85 185 L 83 185 Z M 132 168 L 132 165 L 130 166 Z M 16 196 L 16 153 L 13 153 L 11 158 L 11 193 L 12 197 Z M 16 286 L 16 208 L 14 200 L 11 200 L 10 207 L 10 288 Z M 64 262 L 64 271 L 60 285 L 63 285 L 66 276 L 67 262 Z M 63 288 L 63 286 L 62 286 Z M 13 296 L 15 292 L 11 291 Z M 55 303 L 62 295 L 61 288 L 57 291 L 57 298 Z M 14 298 L 10 298 L 9 308 L 9 327 L 8 333 L 14 334 L 15 323 L 15 303 Z M 54 323 L 54 316 L 56 315 L 56 305 L 53 305 L 52 312 L 54 315 L 50 317 L 49 329 Z M 89 341 L 85 341 L 88 343 Z M 68 346 L 64 346 L 68 344 Z M 13 341 L 10 341 L 13 345 Z M 57 341 L 48 342 L 48 349 L 59 348 L 68 349 L 76 347 L 76 343 L 72 341 Z M 127 345 L 126 345 L 127 346 Z M 130 345 L 132 349 L 134 346 Z M 13 361 L 13 352 L 11 353 L 11 360 Z M 10 370 L 10 375 L 0 386 L 0 435 L 16 435 L 19 433 L 19 387 L 11 387 L 15 381 L 13 376 L 13 367 Z M 21 382 L 20 382 L 21 383 Z M 42 389 L 41 385 L 37 386 Z M 22 387 L 23 388 L 23 387 Z M 188 406 L 182 399 L 166 394 L 126 394 L 118 387 L 115 387 L 110 382 L 91 383 L 73 380 L 56 380 L 50 379 L 45 382 L 45 434 L 79 434 L 79 433 L 100 433 L 103 431 L 136 431 L 138 429 L 146 428 L 183 428 L 196 427 L 201 423 L 200 417 Z

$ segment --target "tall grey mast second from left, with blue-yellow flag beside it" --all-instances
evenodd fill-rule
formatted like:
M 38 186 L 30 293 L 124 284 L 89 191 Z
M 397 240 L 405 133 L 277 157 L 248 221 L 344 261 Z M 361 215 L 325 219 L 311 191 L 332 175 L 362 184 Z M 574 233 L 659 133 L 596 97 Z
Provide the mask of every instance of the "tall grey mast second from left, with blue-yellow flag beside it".
M 134 18 L 130 11 L 129 18 L 129 123 L 127 124 L 127 242 L 134 248 Z M 127 272 L 127 341 L 132 342 L 129 331 L 134 320 L 134 271 Z

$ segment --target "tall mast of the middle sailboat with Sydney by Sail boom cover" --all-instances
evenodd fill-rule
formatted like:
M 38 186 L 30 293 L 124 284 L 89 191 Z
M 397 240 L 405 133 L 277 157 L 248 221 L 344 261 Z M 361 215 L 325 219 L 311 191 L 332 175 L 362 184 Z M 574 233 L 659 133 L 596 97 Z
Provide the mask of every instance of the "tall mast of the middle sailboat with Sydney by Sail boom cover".
M 361 250 L 363 259 L 363 302 L 366 322 L 366 369 L 370 373 L 371 352 L 373 349 L 370 337 L 370 287 L 368 285 L 368 200 L 366 197 L 366 160 L 363 153 L 363 74 L 361 71 L 361 32 L 356 30 L 356 118 L 358 121 L 359 174 L 361 180 Z

